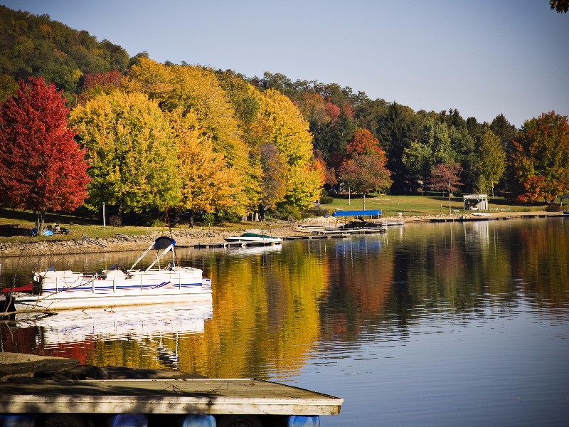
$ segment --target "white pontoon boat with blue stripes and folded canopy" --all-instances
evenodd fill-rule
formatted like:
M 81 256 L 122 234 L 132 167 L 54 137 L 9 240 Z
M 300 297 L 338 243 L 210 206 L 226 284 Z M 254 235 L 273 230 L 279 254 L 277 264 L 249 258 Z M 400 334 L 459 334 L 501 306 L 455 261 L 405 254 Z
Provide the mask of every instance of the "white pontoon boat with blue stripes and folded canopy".
M 198 268 L 177 265 L 175 245 L 173 238 L 156 238 L 128 270 L 113 265 L 100 274 L 38 271 L 33 273 L 32 292 L 9 292 L 7 302 L 20 312 L 211 300 L 211 280 Z M 156 255 L 148 268 L 137 268 L 153 250 Z

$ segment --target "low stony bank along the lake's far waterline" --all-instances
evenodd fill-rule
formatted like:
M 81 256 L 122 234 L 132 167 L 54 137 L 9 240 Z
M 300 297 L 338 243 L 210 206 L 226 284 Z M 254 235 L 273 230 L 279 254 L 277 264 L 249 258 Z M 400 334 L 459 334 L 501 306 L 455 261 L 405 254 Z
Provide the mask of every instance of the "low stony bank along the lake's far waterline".
M 521 217 L 550 217 L 563 216 L 560 212 L 531 211 L 531 212 L 493 212 L 489 216 L 474 216 L 472 214 L 453 214 L 453 215 L 425 215 L 425 216 L 390 216 L 381 218 L 381 221 L 396 221 L 403 219 L 405 224 L 423 223 L 430 221 L 489 221 L 496 218 L 521 218 Z M 191 246 L 196 243 L 212 243 L 223 241 L 223 238 L 235 236 L 244 232 L 252 233 L 270 233 L 272 236 L 286 238 L 287 236 L 306 235 L 307 230 L 303 227 L 316 226 L 338 226 L 343 221 L 336 217 L 317 217 L 306 218 L 304 221 L 282 221 L 276 225 L 272 225 L 269 229 L 259 228 L 257 223 L 242 224 L 242 231 L 236 231 L 232 228 L 174 228 L 172 237 L 176 240 L 179 247 Z M 248 228 L 247 226 L 250 226 Z M 255 227 L 257 226 L 257 227 Z M 126 240 L 120 238 L 97 238 L 92 240 L 83 240 L 83 238 L 73 239 L 69 241 L 37 241 L 31 243 L 0 243 L 0 259 L 13 258 L 21 256 L 41 256 L 41 255 L 65 255 L 80 253 L 110 253 L 122 251 L 144 251 L 156 237 L 161 233 L 152 232 L 139 236 L 128 236 Z M 96 242 L 96 243 L 93 243 Z M 100 246 L 102 245 L 102 246 Z

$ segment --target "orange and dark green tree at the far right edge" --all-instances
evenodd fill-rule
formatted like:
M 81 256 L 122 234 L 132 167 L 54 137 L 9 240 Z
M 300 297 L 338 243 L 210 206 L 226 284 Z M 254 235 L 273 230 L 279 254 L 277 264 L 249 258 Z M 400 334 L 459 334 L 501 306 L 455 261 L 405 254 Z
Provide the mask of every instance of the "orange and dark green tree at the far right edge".
M 513 166 L 523 202 L 548 201 L 569 191 L 569 123 L 555 111 L 526 120 L 514 141 Z

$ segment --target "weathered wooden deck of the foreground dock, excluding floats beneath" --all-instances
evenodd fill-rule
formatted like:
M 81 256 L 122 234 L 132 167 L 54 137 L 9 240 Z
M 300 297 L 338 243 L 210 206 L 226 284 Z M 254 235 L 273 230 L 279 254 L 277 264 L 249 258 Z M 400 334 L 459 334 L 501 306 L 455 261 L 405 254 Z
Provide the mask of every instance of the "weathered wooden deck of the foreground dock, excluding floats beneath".
M 344 399 L 260 379 L 1 383 L 0 413 L 335 415 Z

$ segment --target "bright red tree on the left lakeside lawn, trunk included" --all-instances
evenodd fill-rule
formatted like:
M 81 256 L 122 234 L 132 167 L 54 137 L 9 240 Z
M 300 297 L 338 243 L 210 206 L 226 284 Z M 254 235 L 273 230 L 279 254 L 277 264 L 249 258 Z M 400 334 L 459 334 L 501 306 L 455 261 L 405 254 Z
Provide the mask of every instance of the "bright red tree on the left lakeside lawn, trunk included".
M 20 80 L 0 107 L 0 203 L 33 210 L 40 233 L 46 211 L 73 211 L 87 196 L 86 150 L 68 113 L 62 92 L 43 78 Z

